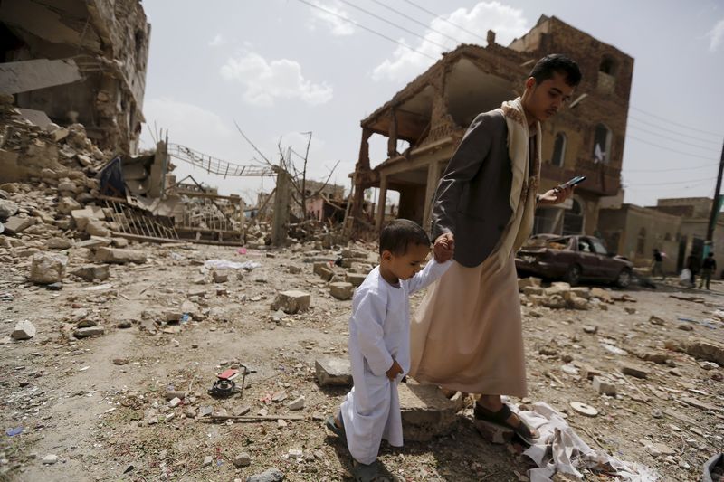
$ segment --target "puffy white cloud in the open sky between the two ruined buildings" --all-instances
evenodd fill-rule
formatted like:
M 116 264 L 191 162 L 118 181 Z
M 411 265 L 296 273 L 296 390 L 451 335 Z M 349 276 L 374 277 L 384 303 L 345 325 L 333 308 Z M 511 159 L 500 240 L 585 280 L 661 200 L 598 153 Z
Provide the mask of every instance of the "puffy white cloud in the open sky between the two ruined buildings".
M 239 81 L 244 87 L 243 100 L 256 106 L 271 107 L 275 99 L 300 99 L 310 105 L 332 99 L 332 88 L 326 82 L 305 79 L 299 62 L 288 59 L 267 61 L 258 53 L 247 52 L 226 61 L 221 75 Z

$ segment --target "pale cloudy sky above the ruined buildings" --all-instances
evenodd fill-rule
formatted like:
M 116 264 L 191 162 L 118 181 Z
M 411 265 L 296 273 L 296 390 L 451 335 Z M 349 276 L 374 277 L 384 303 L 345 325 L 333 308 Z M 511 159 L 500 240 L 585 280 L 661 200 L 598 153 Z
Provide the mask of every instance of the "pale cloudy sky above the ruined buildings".
M 440 52 L 457 43 L 484 44 L 489 29 L 507 45 L 547 14 L 634 58 L 625 202 L 649 205 L 658 197 L 714 191 L 724 142 L 724 0 L 146 0 L 143 5 L 152 31 L 142 147 L 153 146 L 163 128 L 171 142 L 252 164 L 260 156 L 234 121 L 271 160 L 278 159 L 280 139 L 303 154 L 304 133 L 312 132 L 310 177 L 325 177 L 339 161 L 332 181 L 348 187 L 362 118 Z M 386 157 L 386 138 L 372 139 L 376 165 Z M 179 176 L 194 175 L 247 199 L 274 184 L 271 178 L 223 179 L 176 164 Z

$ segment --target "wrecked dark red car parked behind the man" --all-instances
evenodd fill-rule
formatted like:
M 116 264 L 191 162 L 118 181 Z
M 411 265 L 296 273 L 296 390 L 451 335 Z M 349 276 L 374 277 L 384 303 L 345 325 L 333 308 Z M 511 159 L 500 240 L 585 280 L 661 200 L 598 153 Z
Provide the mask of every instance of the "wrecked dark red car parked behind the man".
M 631 284 L 633 263 L 609 253 L 603 241 L 593 236 L 538 234 L 518 251 L 515 267 L 519 275 L 563 279 L 577 285 L 582 280 Z

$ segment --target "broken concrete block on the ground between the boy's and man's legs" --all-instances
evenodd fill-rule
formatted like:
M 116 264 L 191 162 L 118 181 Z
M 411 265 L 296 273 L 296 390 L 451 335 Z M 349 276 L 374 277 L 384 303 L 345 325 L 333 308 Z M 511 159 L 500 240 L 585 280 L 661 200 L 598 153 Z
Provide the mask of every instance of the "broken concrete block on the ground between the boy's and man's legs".
M 427 441 L 452 430 L 462 399 L 448 400 L 437 385 L 421 385 L 411 378 L 398 386 L 405 440 Z

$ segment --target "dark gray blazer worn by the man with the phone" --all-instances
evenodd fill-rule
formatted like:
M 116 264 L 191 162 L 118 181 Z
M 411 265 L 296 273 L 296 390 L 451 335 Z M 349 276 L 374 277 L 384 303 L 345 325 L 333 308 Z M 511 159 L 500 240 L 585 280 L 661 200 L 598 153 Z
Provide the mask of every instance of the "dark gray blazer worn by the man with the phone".
M 490 256 L 510 221 L 513 174 L 508 125 L 497 110 L 479 114 L 447 165 L 433 201 L 433 240 L 452 232 L 454 260 L 469 268 Z

